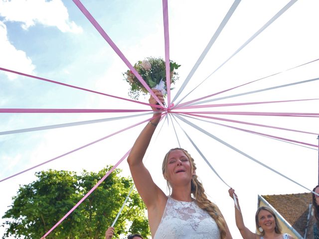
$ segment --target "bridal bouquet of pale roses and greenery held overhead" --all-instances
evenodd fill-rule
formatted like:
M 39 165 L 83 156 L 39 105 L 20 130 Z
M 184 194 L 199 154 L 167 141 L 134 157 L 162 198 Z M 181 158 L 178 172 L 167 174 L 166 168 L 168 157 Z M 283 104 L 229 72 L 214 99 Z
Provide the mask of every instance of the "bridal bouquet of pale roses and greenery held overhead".
M 177 70 L 180 65 L 176 64 L 176 62 L 170 61 L 169 66 L 170 84 L 173 84 L 178 79 L 178 74 L 175 70 Z M 143 61 L 135 63 L 134 68 L 151 89 L 160 90 L 164 96 L 166 95 L 166 71 L 165 61 L 163 59 L 148 57 Z M 123 73 L 123 76 L 131 86 L 129 96 L 132 99 L 138 100 L 140 93 L 143 95 L 149 93 L 131 70 Z

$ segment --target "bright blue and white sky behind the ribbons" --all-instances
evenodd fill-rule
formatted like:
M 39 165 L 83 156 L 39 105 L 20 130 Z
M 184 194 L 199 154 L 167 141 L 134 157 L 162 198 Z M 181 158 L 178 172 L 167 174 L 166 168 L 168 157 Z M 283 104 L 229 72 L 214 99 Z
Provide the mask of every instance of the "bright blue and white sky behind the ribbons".
M 182 95 L 212 73 L 287 2 L 284 0 L 241 2 Z M 0 1 L 0 67 L 128 98 L 129 86 L 123 81 L 122 76 L 127 66 L 72 1 L 27 0 L 23 3 L 25 5 L 21 4 L 14 0 Z M 85 0 L 83 4 L 132 64 L 149 56 L 164 57 L 161 1 Z M 180 79 L 175 86 L 177 89 L 231 4 L 230 0 L 222 3 L 208 0 L 200 3 L 190 0 L 168 1 L 170 58 L 182 65 L 178 70 Z M 317 59 L 319 16 L 316 9 L 318 9 L 316 0 L 297 1 L 186 100 L 209 95 Z M 312 63 L 225 95 L 317 78 L 318 69 L 318 63 Z M 231 98 L 218 103 L 319 98 L 318 86 L 317 82 L 307 83 Z M 174 94 L 176 91 L 172 91 L 172 96 Z M 140 100 L 147 102 L 143 97 Z M 148 109 L 146 106 L 3 72 L 0 72 L 0 108 Z M 213 108 L 211 111 L 318 113 L 318 101 Z M 0 131 L 117 116 L 123 114 L 1 114 Z M 318 120 L 315 118 L 252 116 L 225 116 L 225 118 L 319 132 Z M 0 178 L 10 176 L 143 119 L 146 117 L 0 135 L 2 168 Z M 318 151 L 201 121 L 192 121 L 302 185 L 312 189 L 317 184 Z M 236 189 L 245 222 L 251 230 L 254 230 L 258 194 L 306 191 L 189 126 L 182 125 L 206 157 L 211 159 L 221 177 Z M 313 144 L 318 143 L 316 135 L 233 125 Z M 97 171 L 106 164 L 114 164 L 132 146 L 142 127 L 143 125 L 123 132 L 1 182 L 0 189 L 6 193 L 1 198 L 0 214 L 3 215 L 6 206 L 10 205 L 10 198 L 15 195 L 18 185 L 34 180 L 34 172 L 48 168 Z M 182 142 L 181 146 L 194 155 L 198 175 L 208 195 L 221 208 L 233 238 L 239 238 L 234 224 L 233 204 L 227 196 L 228 188 L 208 169 L 196 150 L 187 142 L 183 132 L 180 129 L 177 129 L 177 132 Z M 154 143 L 155 148 L 150 151 L 146 164 L 154 180 L 165 191 L 165 182 L 160 173 L 162 159 L 158 155 L 164 155 L 169 148 L 178 146 L 171 122 L 168 124 L 165 122 L 158 140 L 160 145 Z M 129 175 L 125 162 L 120 168 L 123 169 L 124 175 Z M 0 235 L 2 232 L 0 231 Z

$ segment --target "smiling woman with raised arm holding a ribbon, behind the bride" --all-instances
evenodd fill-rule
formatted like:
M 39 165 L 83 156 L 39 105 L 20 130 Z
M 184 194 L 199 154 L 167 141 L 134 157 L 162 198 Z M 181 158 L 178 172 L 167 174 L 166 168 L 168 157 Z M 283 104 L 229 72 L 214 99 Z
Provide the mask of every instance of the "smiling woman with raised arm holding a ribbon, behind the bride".
M 258 232 L 258 234 L 251 232 L 244 224 L 235 190 L 231 188 L 228 190 L 228 193 L 231 198 L 233 198 L 234 194 L 237 200 L 238 208 L 235 207 L 236 226 L 243 239 L 294 239 L 287 233 L 282 234 L 276 214 L 269 207 L 260 207 L 257 209 L 255 222 L 256 232 Z

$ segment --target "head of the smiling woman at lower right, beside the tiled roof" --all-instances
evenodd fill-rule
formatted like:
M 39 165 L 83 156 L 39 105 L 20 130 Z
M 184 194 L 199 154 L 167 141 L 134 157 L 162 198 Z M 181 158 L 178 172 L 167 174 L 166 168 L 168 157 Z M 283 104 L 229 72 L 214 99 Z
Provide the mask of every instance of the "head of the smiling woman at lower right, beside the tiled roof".
M 262 236 L 265 235 L 266 231 L 275 230 L 277 234 L 281 234 L 281 228 L 278 223 L 278 219 L 274 211 L 269 207 L 260 207 L 257 209 L 255 215 L 256 228 Z M 260 230 L 262 228 L 262 230 Z M 262 232 L 261 232 L 262 231 Z

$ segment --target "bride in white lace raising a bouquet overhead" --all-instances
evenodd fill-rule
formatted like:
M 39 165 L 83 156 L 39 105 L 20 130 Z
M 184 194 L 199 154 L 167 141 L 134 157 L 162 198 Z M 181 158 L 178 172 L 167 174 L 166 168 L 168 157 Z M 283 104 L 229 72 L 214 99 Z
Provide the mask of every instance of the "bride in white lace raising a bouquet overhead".
M 162 94 L 153 90 L 163 103 Z M 157 102 L 151 96 L 150 104 Z M 152 108 L 155 115 L 157 108 Z M 158 115 L 159 116 L 159 115 Z M 196 175 L 194 159 L 182 148 L 169 150 L 163 160 L 162 173 L 171 194 L 154 183 L 143 157 L 160 117 L 152 119 L 142 130 L 128 157 L 131 174 L 147 206 L 154 239 L 232 239 L 218 207 L 207 199 Z

